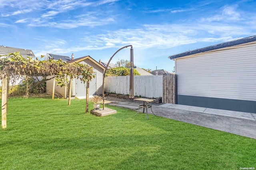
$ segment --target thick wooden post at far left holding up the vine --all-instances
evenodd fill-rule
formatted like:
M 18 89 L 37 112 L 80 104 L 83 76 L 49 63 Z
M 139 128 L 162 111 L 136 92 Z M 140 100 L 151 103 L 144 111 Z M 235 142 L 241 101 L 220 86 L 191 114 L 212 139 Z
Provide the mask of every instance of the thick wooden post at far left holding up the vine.
M 6 115 L 8 106 L 9 78 L 2 78 L 2 128 L 7 127 Z

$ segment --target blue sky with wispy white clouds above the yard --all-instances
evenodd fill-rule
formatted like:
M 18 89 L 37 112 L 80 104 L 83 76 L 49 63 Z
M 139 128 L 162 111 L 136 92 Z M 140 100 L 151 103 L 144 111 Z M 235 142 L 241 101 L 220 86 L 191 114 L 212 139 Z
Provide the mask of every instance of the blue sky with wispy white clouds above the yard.
M 170 55 L 256 35 L 255 9 L 256 0 L 0 0 L 0 45 L 104 62 L 133 45 L 135 65 L 172 72 Z

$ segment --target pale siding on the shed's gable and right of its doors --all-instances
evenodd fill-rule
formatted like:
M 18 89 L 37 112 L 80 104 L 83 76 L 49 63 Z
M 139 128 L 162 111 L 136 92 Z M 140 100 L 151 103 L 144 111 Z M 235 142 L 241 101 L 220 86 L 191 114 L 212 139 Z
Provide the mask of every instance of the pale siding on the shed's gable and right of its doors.
M 97 95 L 102 95 L 102 83 L 103 83 L 103 69 L 100 66 L 97 66 L 95 63 L 86 59 L 85 61 L 80 62 L 82 64 L 88 64 L 93 67 L 93 71 L 96 72 L 96 83 L 97 83 Z

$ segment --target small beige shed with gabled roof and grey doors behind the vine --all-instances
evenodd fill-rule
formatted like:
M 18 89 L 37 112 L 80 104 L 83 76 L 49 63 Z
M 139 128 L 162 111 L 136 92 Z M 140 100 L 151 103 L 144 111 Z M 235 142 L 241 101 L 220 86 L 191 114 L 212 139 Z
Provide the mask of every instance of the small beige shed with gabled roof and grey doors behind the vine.
M 90 56 L 81 57 L 78 59 L 73 59 L 66 61 L 67 63 L 82 63 L 82 64 L 88 64 L 89 66 L 93 67 L 93 70 L 95 72 L 96 77 L 90 81 L 89 85 L 89 97 L 92 97 L 93 95 L 102 95 L 102 83 L 103 83 L 103 72 L 104 67 L 92 59 Z M 51 93 L 52 87 L 53 87 L 54 80 L 48 80 L 46 82 L 46 92 Z M 55 92 L 63 96 L 64 98 L 68 97 L 68 86 L 60 87 L 55 85 Z M 81 82 L 80 79 L 73 79 L 72 80 L 72 96 L 77 98 L 86 98 L 86 83 Z

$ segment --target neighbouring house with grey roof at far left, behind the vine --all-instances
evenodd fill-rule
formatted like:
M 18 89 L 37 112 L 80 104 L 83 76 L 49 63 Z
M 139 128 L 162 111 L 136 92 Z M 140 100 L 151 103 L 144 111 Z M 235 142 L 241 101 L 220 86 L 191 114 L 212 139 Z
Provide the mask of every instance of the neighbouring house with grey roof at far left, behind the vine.
M 0 46 L 0 56 L 1 55 L 9 55 L 9 53 L 14 53 L 14 52 L 20 52 L 20 55 L 24 58 L 27 57 L 32 57 L 34 58 L 35 55 L 32 50 L 29 49 L 19 49 L 19 48 L 14 48 L 14 47 L 6 47 L 6 46 Z M 2 56 L 4 57 L 4 56 Z M 18 80 L 16 80 L 14 83 L 10 83 L 10 85 L 18 85 L 22 83 L 23 78 L 20 77 Z M 0 86 L 2 86 L 2 80 L 0 80 Z

